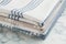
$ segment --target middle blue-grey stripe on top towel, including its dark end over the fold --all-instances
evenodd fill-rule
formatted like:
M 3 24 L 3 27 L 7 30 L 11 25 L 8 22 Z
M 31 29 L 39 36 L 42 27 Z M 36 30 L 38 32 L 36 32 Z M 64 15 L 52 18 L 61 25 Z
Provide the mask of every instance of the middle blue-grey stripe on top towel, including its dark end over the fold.
M 43 2 L 44 0 L 31 0 L 31 2 L 29 2 L 25 7 L 21 8 L 21 9 L 13 9 L 11 10 L 11 14 L 13 15 L 20 15 L 23 16 L 23 13 L 30 10 L 35 9 L 37 6 L 40 6 L 41 2 Z

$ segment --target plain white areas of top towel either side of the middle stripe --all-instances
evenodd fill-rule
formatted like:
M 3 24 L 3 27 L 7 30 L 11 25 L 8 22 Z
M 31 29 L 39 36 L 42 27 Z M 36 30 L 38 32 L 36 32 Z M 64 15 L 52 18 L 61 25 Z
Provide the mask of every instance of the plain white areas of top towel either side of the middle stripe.
M 0 9 L 20 9 L 25 7 L 31 0 L 12 0 L 10 3 L 8 3 L 4 7 L 0 7 Z M 36 18 L 41 21 L 44 21 L 48 14 L 52 12 L 54 7 L 57 4 L 57 2 L 61 0 L 44 0 L 38 7 L 31 11 L 26 11 L 24 14 L 29 14 L 33 18 Z M 31 7 L 31 6 L 30 6 Z

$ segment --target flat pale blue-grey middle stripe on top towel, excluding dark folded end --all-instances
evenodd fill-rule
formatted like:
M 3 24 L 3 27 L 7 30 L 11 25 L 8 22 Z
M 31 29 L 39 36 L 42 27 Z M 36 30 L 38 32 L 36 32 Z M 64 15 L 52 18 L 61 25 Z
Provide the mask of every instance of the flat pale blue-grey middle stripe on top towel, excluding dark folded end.
M 41 2 L 44 0 L 31 0 L 25 7 L 21 8 L 20 11 L 22 13 L 35 9 L 37 6 L 40 6 Z

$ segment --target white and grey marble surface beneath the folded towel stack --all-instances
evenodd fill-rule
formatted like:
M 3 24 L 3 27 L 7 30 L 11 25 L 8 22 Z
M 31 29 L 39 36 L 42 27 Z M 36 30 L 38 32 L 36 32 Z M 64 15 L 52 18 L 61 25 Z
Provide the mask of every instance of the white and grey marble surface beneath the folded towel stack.
M 2 30 L 1 30 L 2 29 Z M 66 44 L 66 10 L 62 13 L 46 40 L 38 40 L 0 28 L 0 44 Z

